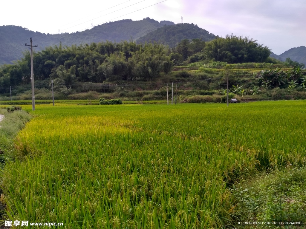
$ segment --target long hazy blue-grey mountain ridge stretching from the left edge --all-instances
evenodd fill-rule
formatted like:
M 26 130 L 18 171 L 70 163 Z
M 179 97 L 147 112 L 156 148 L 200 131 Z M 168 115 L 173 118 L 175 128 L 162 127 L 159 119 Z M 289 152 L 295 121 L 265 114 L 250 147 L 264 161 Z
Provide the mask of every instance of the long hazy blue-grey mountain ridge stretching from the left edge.
M 120 42 L 131 38 L 136 40 L 164 25 L 169 26 L 174 25 L 174 23 L 171 21 L 158 22 L 147 17 L 139 21 L 120 20 L 98 25 L 82 32 L 54 35 L 30 31 L 21 26 L 0 26 L 0 40 L 2 41 L 0 65 L 10 64 L 11 61 L 23 57 L 22 52 L 28 49 L 24 43 L 29 43 L 30 37 L 33 37 L 33 44 L 38 44 L 38 48 L 35 48 L 35 50 L 40 51 L 47 46 L 58 45 L 60 42 L 62 42 L 62 45 L 71 46 L 106 40 L 112 42 Z

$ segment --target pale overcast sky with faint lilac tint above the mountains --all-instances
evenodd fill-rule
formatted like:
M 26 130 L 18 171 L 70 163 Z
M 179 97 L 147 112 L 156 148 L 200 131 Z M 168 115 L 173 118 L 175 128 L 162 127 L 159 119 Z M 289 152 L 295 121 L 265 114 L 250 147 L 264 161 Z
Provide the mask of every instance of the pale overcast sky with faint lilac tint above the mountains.
M 181 23 L 182 16 L 183 23 L 197 24 L 215 35 L 225 37 L 233 33 L 254 38 L 276 54 L 306 46 L 306 0 L 162 1 L 2 1 L 0 24 L 54 34 L 58 29 L 70 33 L 90 28 L 91 24 L 144 17 L 177 24 Z M 161 3 L 153 5 L 158 2 Z M 142 9 L 147 6 L 150 7 Z M 139 11 L 131 13 L 136 10 Z

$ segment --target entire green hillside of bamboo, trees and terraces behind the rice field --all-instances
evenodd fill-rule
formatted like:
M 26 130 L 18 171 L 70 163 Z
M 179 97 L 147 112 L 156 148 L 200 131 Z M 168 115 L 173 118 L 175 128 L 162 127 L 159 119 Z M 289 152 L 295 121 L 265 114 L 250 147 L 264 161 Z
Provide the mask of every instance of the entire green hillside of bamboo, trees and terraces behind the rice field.
M 270 52 L 233 35 L 209 42 L 184 39 L 174 48 L 132 41 L 60 44 L 34 54 L 35 98 L 50 100 L 53 80 L 56 100 L 165 100 L 167 83 L 174 82 L 179 102 L 225 102 L 228 75 L 238 101 L 305 99 L 304 65 L 281 62 Z M 31 100 L 29 52 L 0 67 L 0 100 L 10 100 L 11 87 L 13 100 Z

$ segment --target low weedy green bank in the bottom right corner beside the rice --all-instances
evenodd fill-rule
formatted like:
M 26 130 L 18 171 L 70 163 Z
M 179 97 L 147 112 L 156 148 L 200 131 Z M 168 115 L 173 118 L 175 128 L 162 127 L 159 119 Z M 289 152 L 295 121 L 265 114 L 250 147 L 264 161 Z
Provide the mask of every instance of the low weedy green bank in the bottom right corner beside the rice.
M 305 184 L 305 167 L 287 165 L 284 170 L 268 170 L 252 180 L 234 185 L 233 194 L 238 200 L 237 221 L 298 222 L 296 228 L 303 227 L 306 224 Z M 257 225 L 256 228 L 267 228 L 267 225 Z

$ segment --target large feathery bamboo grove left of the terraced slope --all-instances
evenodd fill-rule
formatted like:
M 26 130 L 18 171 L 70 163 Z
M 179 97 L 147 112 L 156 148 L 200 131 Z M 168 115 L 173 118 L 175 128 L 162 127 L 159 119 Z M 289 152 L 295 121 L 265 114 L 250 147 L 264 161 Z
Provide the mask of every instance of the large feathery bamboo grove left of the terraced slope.
M 171 71 L 172 62 L 163 45 L 135 42 L 100 42 L 71 47 L 47 47 L 33 57 L 35 80 L 54 79 L 54 89 L 66 90 L 65 82 L 155 79 Z M 0 68 L 0 85 L 30 82 L 30 54 Z

